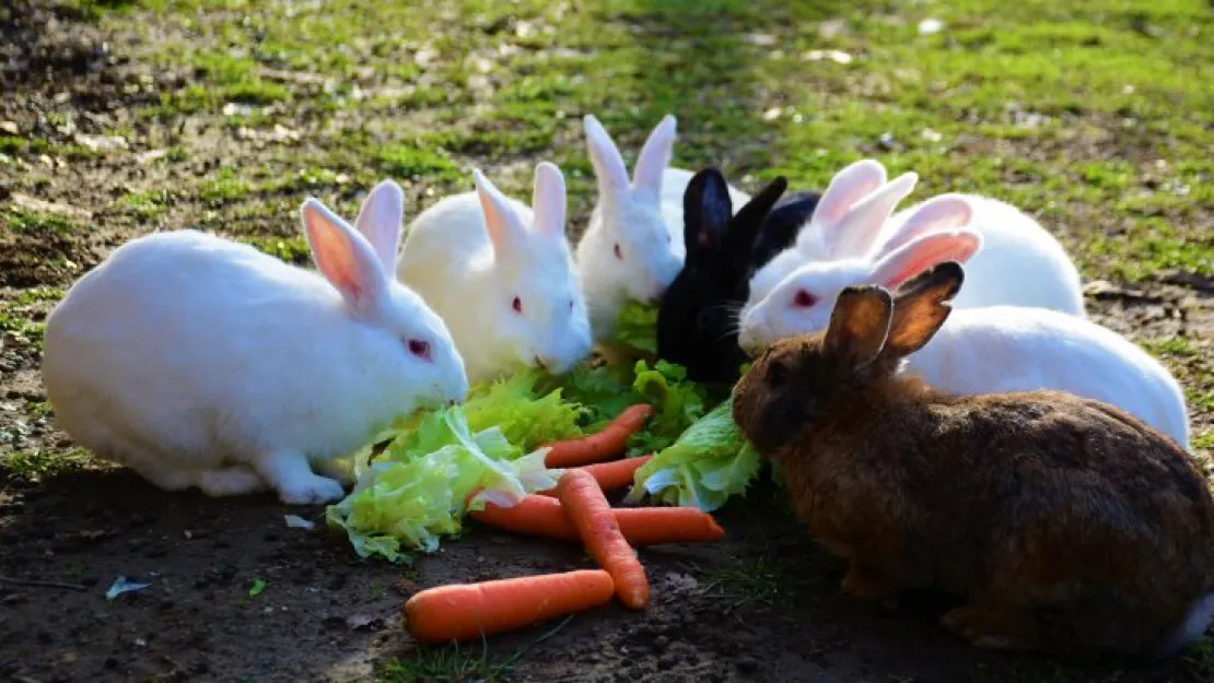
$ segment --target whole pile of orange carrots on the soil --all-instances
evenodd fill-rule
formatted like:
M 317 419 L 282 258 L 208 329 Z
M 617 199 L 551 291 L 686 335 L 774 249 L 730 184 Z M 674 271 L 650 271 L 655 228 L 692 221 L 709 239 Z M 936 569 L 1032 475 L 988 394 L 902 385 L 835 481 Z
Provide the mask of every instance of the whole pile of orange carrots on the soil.
M 565 468 L 555 489 L 471 513 L 507 531 L 580 541 L 600 569 L 427 588 L 404 604 L 409 633 L 426 643 L 480 638 L 601 607 L 612 596 L 631 609 L 648 607 L 649 582 L 634 546 L 725 536 L 710 514 L 694 507 L 613 508 L 607 501 L 605 491 L 631 483 L 651 456 L 602 461 L 623 455 L 652 411 L 637 404 L 597 434 L 548 444 L 545 463 Z

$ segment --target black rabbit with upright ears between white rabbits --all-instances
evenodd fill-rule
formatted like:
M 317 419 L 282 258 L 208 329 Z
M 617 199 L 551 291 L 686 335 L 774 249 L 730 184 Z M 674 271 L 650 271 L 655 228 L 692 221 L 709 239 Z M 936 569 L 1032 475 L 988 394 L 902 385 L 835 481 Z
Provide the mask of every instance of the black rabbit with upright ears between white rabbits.
M 658 357 L 687 368 L 697 382 L 732 383 L 747 360 L 738 347 L 738 311 L 750 277 L 781 250 L 813 214 L 821 193 L 783 198 L 777 177 L 733 214 L 728 187 L 714 167 L 696 173 L 683 193 L 687 258 L 658 309 Z

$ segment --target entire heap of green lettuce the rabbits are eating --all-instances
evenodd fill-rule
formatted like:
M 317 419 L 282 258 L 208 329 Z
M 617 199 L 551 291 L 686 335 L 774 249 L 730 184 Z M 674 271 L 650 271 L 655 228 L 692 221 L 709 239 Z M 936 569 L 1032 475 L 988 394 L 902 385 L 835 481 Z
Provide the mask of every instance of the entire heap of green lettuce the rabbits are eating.
M 631 311 L 636 331 L 643 311 Z M 652 336 L 652 319 L 646 325 Z M 721 398 L 662 360 L 586 364 L 561 376 L 526 370 L 473 387 L 463 405 L 398 419 L 348 459 L 357 484 L 325 517 L 361 557 L 412 560 L 459 534 L 470 510 L 515 505 L 556 485 L 561 471 L 545 467 L 543 444 L 596 433 L 636 403 L 654 411 L 628 455 L 656 455 L 637 471 L 629 499 L 713 511 L 759 471 Z

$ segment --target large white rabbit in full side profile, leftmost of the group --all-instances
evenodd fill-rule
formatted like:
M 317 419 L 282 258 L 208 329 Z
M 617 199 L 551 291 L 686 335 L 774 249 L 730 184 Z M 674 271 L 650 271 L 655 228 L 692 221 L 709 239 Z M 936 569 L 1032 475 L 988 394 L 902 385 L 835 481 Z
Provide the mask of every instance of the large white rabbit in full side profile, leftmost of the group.
M 46 321 L 59 425 L 161 489 L 340 499 L 312 463 L 467 392 L 442 319 L 390 275 L 403 201 L 396 183 L 376 186 L 358 232 L 305 201 L 320 274 L 189 229 L 115 249 Z

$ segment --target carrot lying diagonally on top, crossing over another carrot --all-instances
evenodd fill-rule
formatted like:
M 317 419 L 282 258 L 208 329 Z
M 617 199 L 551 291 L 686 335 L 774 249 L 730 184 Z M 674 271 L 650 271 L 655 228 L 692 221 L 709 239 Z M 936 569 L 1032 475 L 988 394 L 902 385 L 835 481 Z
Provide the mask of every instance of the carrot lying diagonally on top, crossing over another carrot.
M 649 581 L 636 551 L 620 533 L 599 482 L 580 469 L 567 469 L 556 484 L 556 493 L 582 543 L 615 582 L 615 597 L 626 608 L 645 609 L 649 604 Z

